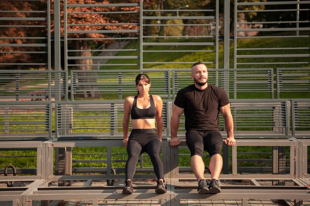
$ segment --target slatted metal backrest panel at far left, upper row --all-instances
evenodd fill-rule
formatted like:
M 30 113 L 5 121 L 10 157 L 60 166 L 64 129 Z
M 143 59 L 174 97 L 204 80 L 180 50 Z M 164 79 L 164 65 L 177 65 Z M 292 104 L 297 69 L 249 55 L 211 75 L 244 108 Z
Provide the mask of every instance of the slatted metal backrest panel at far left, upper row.
M 66 71 L 0 70 L 0 96 L 7 101 L 68 100 Z

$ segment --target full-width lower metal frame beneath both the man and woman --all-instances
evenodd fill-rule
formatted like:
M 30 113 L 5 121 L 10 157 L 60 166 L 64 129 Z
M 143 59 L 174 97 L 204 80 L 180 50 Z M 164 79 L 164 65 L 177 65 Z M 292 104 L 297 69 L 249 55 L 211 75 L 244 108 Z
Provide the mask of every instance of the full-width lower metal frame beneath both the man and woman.
M 224 183 L 226 181 L 239 181 L 243 180 L 245 182 L 249 182 L 246 185 L 221 185 L 222 192 L 216 195 L 199 195 L 197 194 L 197 186 L 186 186 L 180 185 L 179 181 L 182 180 L 195 180 L 193 174 L 182 174 L 179 171 L 178 166 L 178 147 L 171 147 L 169 145 L 169 141 L 162 142 L 162 155 L 163 155 L 163 163 L 164 163 L 164 172 L 165 172 L 165 180 L 167 182 L 167 190 L 166 194 L 158 195 L 154 193 L 155 186 L 137 186 L 135 187 L 136 192 L 130 196 L 124 196 L 121 194 L 122 187 L 118 186 L 100 186 L 95 187 L 91 185 L 93 180 L 105 180 L 105 179 L 123 179 L 123 174 L 107 174 L 105 175 L 53 175 L 52 174 L 52 157 L 53 150 L 57 148 L 65 148 L 66 153 L 64 155 L 65 171 L 71 171 L 72 162 L 72 147 L 92 147 L 92 146 L 121 146 L 121 140 L 96 140 L 96 141 L 46 141 L 41 142 L 42 152 L 39 153 L 38 158 L 45 158 L 48 160 L 42 161 L 44 164 L 38 165 L 44 172 L 44 175 L 41 177 L 41 180 L 33 177 L 27 176 L 15 176 L 15 177 L 1 177 L 3 180 L 23 180 L 27 178 L 28 180 L 34 179 L 34 182 L 29 185 L 29 187 L 24 188 L 19 193 L 11 194 L 10 199 L 19 200 L 23 202 L 22 205 L 18 205 L 18 201 L 15 201 L 13 206 L 31 206 L 32 201 L 42 201 L 42 203 L 47 203 L 47 201 L 52 200 L 66 200 L 70 197 L 70 200 L 90 200 L 93 201 L 93 204 L 96 205 L 98 200 L 103 199 L 159 199 L 161 200 L 162 206 L 179 206 L 180 201 L 183 199 L 212 199 L 212 200 L 231 200 L 231 199 L 241 199 L 242 204 L 247 206 L 247 201 L 249 199 L 291 199 L 296 200 L 296 205 L 302 204 L 302 200 L 307 200 L 310 198 L 308 183 L 309 179 L 298 179 L 295 178 L 295 153 L 298 151 L 298 147 L 300 147 L 299 140 L 296 139 L 238 139 L 237 146 L 286 146 L 290 147 L 290 174 L 281 174 L 278 172 L 277 174 L 238 174 L 237 168 L 237 146 L 233 147 L 232 152 L 232 163 L 233 163 L 233 172 L 232 174 L 222 174 L 221 181 Z M 1 144 L 2 147 L 10 147 L 11 142 L 3 142 Z M 28 146 L 30 146 L 29 143 Z M 16 145 L 15 145 L 16 146 Z M 20 147 L 25 147 L 24 142 L 20 142 Z M 27 145 L 26 145 L 27 146 Z M 185 146 L 185 141 L 183 140 L 180 146 Z M 43 152 L 44 151 L 44 152 Z M 276 150 L 277 151 L 277 150 Z M 304 151 L 304 150 L 303 150 Z M 42 155 L 41 154 L 45 154 Z M 274 164 L 276 166 L 281 163 L 281 157 L 277 156 L 277 152 L 274 153 L 276 155 Z M 110 157 L 108 157 L 110 158 Z M 107 168 L 111 168 L 110 161 Z M 46 169 L 44 169 L 46 168 Z M 108 169 L 109 170 L 109 169 Z M 135 178 L 154 178 L 154 174 L 137 174 Z M 209 178 L 209 175 L 206 175 L 206 178 Z M 84 180 L 85 185 L 83 188 L 80 186 L 74 186 L 67 184 L 65 187 L 58 185 L 57 187 L 50 187 L 50 183 L 53 182 L 71 182 L 72 180 Z M 278 181 L 283 184 L 264 186 L 259 182 L 264 180 Z M 290 181 L 294 183 L 294 186 L 288 186 L 285 182 Z M 226 183 L 225 183 L 226 184 Z M 40 189 L 39 189 L 40 188 Z M 38 190 L 39 189 L 39 190 Z M 6 190 L 8 191 L 8 190 Z M 1 192 L 0 192 L 1 195 Z

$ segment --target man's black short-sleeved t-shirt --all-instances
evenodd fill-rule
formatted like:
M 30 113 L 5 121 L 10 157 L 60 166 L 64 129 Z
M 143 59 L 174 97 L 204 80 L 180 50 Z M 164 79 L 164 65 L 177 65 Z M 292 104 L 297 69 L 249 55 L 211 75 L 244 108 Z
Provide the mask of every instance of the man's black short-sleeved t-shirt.
M 186 131 L 213 131 L 219 130 L 219 107 L 229 104 L 229 99 L 218 86 L 208 84 L 200 90 L 192 84 L 178 91 L 174 104 L 184 108 Z

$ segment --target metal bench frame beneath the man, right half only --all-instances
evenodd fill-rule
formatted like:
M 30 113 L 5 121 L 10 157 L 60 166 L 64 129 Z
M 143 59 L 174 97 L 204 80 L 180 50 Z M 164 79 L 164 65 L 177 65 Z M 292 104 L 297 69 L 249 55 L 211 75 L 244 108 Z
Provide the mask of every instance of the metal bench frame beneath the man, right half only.
M 182 141 L 181 145 L 184 146 L 185 142 Z M 238 174 L 237 172 L 237 146 L 271 146 L 275 150 L 274 152 L 274 168 L 277 168 L 276 174 Z M 222 191 L 216 195 L 199 195 L 197 194 L 197 186 L 184 186 L 179 184 L 180 180 L 195 180 L 193 174 L 182 174 L 179 172 L 178 166 L 178 147 L 170 147 L 172 157 L 171 161 L 174 164 L 171 164 L 170 173 L 171 179 L 170 182 L 173 183 L 171 186 L 171 199 L 174 199 L 173 206 L 179 206 L 182 199 L 212 199 L 212 200 L 230 200 L 230 199 L 241 199 L 242 205 L 247 206 L 247 201 L 249 199 L 278 199 L 278 200 L 295 200 L 296 203 L 302 203 L 301 200 L 304 198 L 310 197 L 308 192 L 309 188 L 307 184 L 299 182 L 295 176 L 295 155 L 296 149 L 299 147 L 299 142 L 293 139 L 237 139 L 237 146 L 232 148 L 232 165 L 233 171 L 232 174 L 221 174 L 220 179 L 222 182 L 227 180 L 243 180 L 243 182 L 249 181 L 249 185 L 221 185 Z M 282 171 L 278 168 L 281 168 L 282 157 L 278 153 L 277 146 L 283 148 L 283 146 L 290 147 L 290 174 L 282 174 Z M 274 170 L 275 171 L 275 170 Z M 210 175 L 205 174 L 205 178 L 209 179 Z M 263 186 L 259 181 L 271 181 L 270 186 Z M 290 187 L 285 183 L 287 181 L 292 181 L 294 186 Z M 273 185 L 273 182 L 281 183 Z M 303 198 L 300 198 L 304 196 Z

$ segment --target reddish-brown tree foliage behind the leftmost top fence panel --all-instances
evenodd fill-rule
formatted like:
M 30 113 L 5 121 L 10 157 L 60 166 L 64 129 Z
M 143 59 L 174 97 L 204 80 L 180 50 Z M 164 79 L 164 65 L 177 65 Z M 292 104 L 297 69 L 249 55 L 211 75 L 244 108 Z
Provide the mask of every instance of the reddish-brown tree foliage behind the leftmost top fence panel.
M 41 2 L 30 1 L 0 1 L 0 17 L 9 20 L 0 21 L 0 43 L 12 44 L 15 46 L 0 47 L 0 62 L 18 64 L 24 62 L 40 62 L 44 56 L 36 54 L 36 59 L 30 52 L 35 52 L 38 48 L 30 46 L 17 46 L 16 44 L 27 44 L 38 42 L 32 37 L 46 36 L 43 27 L 30 27 L 33 25 L 43 26 L 42 21 L 27 21 L 21 18 L 44 17 L 44 13 L 31 13 L 25 11 L 38 11 L 44 8 L 45 5 Z M 26 53 L 28 52 L 28 53 Z M 0 66 L 1 69 L 22 69 L 22 66 Z

